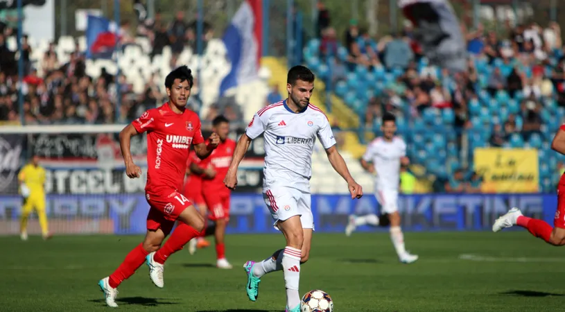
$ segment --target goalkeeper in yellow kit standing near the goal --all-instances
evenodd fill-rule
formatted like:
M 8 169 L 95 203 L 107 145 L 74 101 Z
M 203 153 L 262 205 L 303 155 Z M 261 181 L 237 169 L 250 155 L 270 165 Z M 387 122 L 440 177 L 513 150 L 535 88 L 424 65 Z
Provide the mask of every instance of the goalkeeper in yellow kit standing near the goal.
M 21 168 L 18 175 L 19 192 L 24 198 L 24 205 L 21 207 L 20 235 L 23 241 L 28 239 L 28 218 L 31 211 L 35 208 L 40 219 L 40 227 L 43 239 L 49 239 L 49 229 L 47 216 L 45 213 L 45 169 L 39 165 L 39 157 L 33 156 L 31 162 Z

